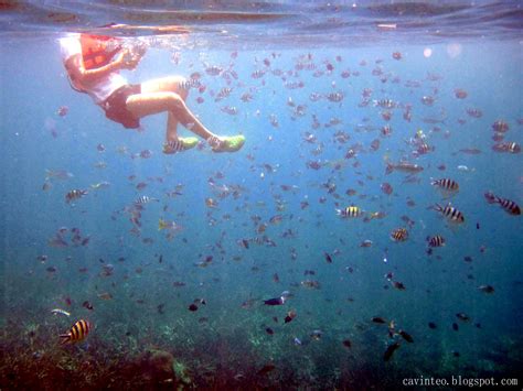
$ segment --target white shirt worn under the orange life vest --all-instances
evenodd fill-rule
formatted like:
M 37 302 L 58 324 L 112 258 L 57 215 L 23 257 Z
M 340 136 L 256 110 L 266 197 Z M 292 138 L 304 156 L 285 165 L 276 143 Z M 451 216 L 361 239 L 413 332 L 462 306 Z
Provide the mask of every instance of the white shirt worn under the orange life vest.
M 64 63 L 75 54 L 82 55 L 79 34 L 73 33 L 60 39 L 60 47 Z M 107 77 L 93 84 L 73 84 L 74 87 L 88 94 L 97 105 L 102 105 L 114 91 L 125 85 L 127 85 L 127 80 L 118 72 L 110 73 Z

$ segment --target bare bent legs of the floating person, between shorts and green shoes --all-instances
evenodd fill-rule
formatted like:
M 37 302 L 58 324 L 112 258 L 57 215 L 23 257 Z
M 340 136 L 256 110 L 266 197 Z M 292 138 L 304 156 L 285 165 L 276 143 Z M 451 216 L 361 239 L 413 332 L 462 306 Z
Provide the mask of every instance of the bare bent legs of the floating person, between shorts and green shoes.
M 138 118 L 168 111 L 167 141 L 177 140 L 178 122 L 205 140 L 216 137 L 186 107 L 188 91 L 180 88 L 184 80 L 173 76 L 142 83 L 141 94 L 127 98 L 127 108 Z

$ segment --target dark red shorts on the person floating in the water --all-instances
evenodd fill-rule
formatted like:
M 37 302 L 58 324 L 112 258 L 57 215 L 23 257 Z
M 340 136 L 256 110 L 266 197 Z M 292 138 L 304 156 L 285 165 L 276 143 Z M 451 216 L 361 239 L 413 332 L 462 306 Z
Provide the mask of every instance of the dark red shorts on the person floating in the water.
M 121 123 L 127 129 L 139 128 L 140 119 L 132 116 L 127 109 L 126 101 L 130 95 L 140 93 L 141 86 L 139 84 L 128 84 L 118 88 L 102 104 L 105 116 L 115 122 Z

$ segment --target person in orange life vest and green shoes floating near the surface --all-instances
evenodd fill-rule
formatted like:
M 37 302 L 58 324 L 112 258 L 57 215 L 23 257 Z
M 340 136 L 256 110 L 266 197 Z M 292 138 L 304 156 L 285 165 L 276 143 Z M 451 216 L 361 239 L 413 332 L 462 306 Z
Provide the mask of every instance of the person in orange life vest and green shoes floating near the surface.
M 124 45 L 118 37 L 84 33 L 67 35 L 60 44 L 71 86 L 89 95 L 108 119 L 137 129 L 140 118 L 168 112 L 163 153 L 185 151 L 198 144 L 198 138 L 178 137 L 179 122 L 206 140 L 214 152 L 236 152 L 243 146 L 243 135 L 216 135 L 189 110 L 185 99 L 191 80 L 170 76 L 138 85 L 127 83 L 120 70 L 138 66 L 146 53 L 145 45 Z

